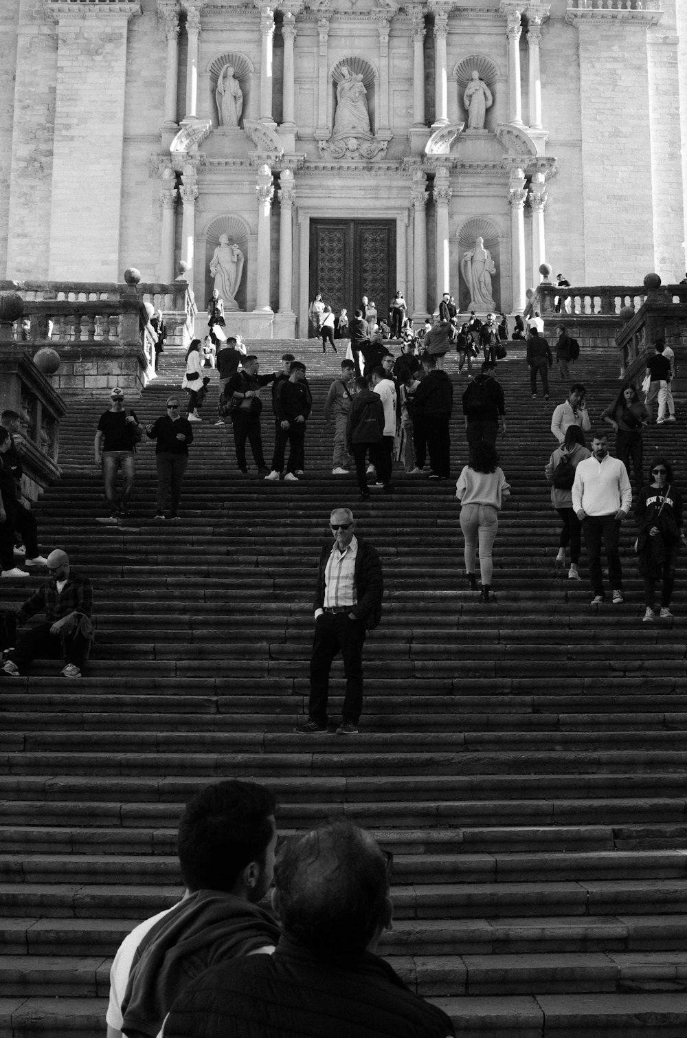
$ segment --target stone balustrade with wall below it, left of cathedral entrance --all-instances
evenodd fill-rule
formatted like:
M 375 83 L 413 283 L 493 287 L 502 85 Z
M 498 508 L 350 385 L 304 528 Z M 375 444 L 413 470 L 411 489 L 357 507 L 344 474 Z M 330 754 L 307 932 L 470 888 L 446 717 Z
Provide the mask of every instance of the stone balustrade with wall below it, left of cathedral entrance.
M 193 337 L 196 307 L 185 280 L 142 282 L 138 271 L 128 270 L 125 282 L 0 281 L 0 293 L 16 293 L 24 302 L 22 320 L 12 325 L 18 346 L 50 346 L 59 354 L 58 389 L 99 394 L 119 384 L 140 392 L 155 377 L 157 334 L 149 319 L 156 309 L 169 346 Z M 7 329 L 0 337 L 7 339 Z

